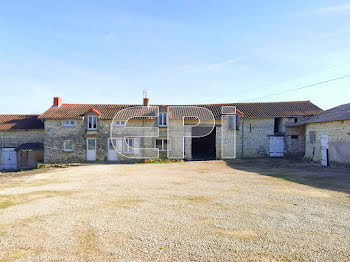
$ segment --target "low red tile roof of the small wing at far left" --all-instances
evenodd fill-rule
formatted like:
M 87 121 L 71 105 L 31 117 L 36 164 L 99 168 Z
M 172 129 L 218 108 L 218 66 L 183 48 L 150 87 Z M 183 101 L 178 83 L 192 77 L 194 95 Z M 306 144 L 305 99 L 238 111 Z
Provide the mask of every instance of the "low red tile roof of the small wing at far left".
M 39 115 L 0 115 L 0 130 L 44 129 Z

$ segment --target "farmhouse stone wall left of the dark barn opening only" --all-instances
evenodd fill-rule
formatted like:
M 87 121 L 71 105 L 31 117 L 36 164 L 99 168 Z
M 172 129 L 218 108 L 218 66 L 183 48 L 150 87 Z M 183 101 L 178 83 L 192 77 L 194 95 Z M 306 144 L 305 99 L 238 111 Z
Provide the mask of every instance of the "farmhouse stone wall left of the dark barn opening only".
M 46 120 L 45 121 L 45 163 L 66 163 L 66 162 L 85 162 L 86 161 L 86 139 L 96 139 L 96 161 L 107 161 L 108 157 L 108 139 L 110 138 L 111 120 L 98 120 L 97 130 L 86 130 L 86 123 L 82 119 L 75 120 L 75 126 L 65 127 L 64 121 L 61 120 Z M 171 134 L 170 141 L 174 143 L 168 143 L 168 146 L 172 149 L 176 155 L 182 155 L 183 144 L 178 143 L 181 141 L 177 138 L 178 135 L 190 134 L 189 126 L 182 126 L 182 121 L 173 121 L 176 127 L 177 134 Z M 151 120 L 130 120 L 128 121 L 128 127 L 158 127 L 157 121 Z M 186 132 L 185 132 L 186 130 Z M 181 131 L 181 132 L 180 132 Z M 123 128 L 115 129 L 113 137 L 122 137 L 128 134 L 128 130 Z M 148 131 L 139 128 L 132 130 L 133 136 L 139 136 L 140 138 L 140 155 L 143 157 L 153 157 L 155 151 L 152 150 L 152 155 L 143 151 L 144 148 L 155 148 L 156 138 L 167 138 L 167 128 L 159 127 L 158 137 L 144 137 L 148 135 Z M 123 135 L 124 134 L 124 135 Z M 132 137 L 133 137 L 132 136 Z M 73 151 L 64 151 L 64 141 L 73 141 Z M 191 145 L 190 139 L 186 138 L 186 158 L 190 159 Z M 117 154 L 118 161 L 135 161 L 136 154 Z M 159 152 L 160 158 L 166 158 L 167 152 Z

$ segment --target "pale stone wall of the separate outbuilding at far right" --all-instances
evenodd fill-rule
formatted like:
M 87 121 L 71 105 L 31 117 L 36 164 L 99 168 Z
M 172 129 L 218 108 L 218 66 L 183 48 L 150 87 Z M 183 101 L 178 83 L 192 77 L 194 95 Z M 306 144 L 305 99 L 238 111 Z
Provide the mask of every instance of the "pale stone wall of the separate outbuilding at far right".
M 315 132 L 316 141 L 310 141 L 310 132 Z M 328 135 L 329 160 L 331 164 L 350 164 L 350 158 L 341 155 L 350 151 L 350 120 L 307 124 L 305 128 L 305 158 L 321 162 L 321 135 Z M 343 145 L 345 151 L 332 153 L 333 147 Z

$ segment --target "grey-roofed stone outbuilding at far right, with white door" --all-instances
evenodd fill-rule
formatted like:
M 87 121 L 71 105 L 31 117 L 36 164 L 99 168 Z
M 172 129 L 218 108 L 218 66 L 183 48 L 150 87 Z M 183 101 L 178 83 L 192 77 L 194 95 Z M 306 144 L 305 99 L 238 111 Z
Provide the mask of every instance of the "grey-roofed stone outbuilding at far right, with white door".
M 305 118 L 291 128 L 305 129 L 305 158 L 328 165 L 350 165 L 350 104 Z

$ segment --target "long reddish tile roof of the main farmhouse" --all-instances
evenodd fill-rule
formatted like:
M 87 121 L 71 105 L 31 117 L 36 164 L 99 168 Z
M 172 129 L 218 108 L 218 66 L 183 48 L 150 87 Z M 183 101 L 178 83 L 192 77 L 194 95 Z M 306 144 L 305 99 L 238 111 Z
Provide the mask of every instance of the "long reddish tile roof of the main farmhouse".
M 43 119 L 79 119 L 89 109 L 93 108 L 101 113 L 101 119 L 113 119 L 115 114 L 127 107 L 140 105 L 104 105 L 104 104 L 62 104 L 60 107 L 50 107 L 39 118 Z M 157 106 L 157 105 L 154 105 Z M 158 105 L 170 106 L 170 105 Z M 179 106 L 179 105 L 174 105 Z M 223 106 L 236 106 L 245 117 L 294 117 L 317 115 L 323 110 L 310 101 L 295 102 L 265 102 L 265 103 L 227 103 L 206 105 L 183 105 L 198 106 L 209 109 L 216 119 L 221 118 Z

